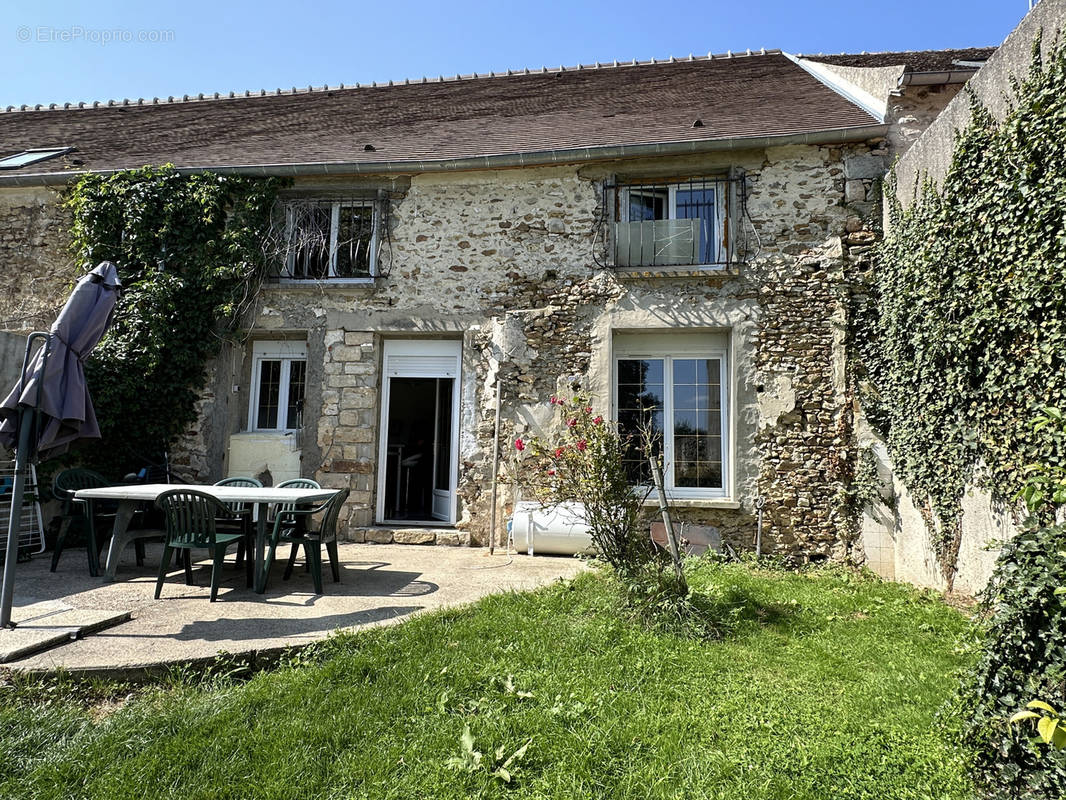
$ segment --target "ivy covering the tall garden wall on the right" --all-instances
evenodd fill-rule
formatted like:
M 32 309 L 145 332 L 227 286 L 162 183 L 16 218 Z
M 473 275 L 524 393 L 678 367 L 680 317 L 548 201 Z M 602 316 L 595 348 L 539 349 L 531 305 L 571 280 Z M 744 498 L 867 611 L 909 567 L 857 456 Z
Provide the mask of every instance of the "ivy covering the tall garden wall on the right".
M 1027 421 L 1066 406 L 1066 51 L 1040 57 L 1002 122 L 972 102 L 939 189 L 887 188 L 853 336 L 871 420 L 938 531 L 951 578 L 968 485 L 1008 501 L 1034 461 L 1066 464 Z

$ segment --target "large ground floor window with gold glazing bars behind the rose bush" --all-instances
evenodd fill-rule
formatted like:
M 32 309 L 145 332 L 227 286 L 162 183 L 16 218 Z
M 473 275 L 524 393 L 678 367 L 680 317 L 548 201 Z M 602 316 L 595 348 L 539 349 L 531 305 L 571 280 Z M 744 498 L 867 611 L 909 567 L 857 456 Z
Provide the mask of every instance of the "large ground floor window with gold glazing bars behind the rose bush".
M 635 447 L 646 430 L 662 453 L 672 494 L 725 496 L 727 343 L 724 334 L 714 333 L 615 337 L 614 407 L 619 431 L 633 444 L 627 466 L 635 484 L 650 484 L 650 467 Z

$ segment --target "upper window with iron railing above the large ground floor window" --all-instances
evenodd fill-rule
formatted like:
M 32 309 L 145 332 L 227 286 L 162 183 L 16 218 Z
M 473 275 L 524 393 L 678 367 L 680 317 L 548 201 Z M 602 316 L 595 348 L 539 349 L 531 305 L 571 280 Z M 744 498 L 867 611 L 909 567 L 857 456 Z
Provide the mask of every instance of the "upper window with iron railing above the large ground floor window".
M 607 265 L 721 268 L 740 260 L 743 179 L 610 182 L 603 190 Z

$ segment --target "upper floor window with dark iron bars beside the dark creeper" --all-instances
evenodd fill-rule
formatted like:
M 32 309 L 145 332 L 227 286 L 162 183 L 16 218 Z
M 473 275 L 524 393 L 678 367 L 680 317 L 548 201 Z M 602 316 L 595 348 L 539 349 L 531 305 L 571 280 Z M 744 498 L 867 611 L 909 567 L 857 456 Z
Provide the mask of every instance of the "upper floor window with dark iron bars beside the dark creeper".
M 367 281 L 377 274 L 373 199 L 293 201 L 285 211 L 282 278 Z

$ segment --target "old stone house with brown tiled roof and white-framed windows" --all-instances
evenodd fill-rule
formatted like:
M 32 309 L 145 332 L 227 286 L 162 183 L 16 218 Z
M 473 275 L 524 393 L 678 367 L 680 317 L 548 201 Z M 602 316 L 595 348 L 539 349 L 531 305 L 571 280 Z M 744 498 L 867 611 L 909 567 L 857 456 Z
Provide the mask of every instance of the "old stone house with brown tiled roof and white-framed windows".
M 506 459 L 577 380 L 623 426 L 658 428 L 685 519 L 750 548 L 761 498 L 766 549 L 861 559 L 842 499 L 850 275 L 890 159 L 989 52 L 9 109 L 0 327 L 47 324 L 80 271 L 56 206 L 71 176 L 291 176 L 274 279 L 174 448 L 190 478 L 305 475 L 352 490 L 356 540 L 484 542 L 494 437 Z

